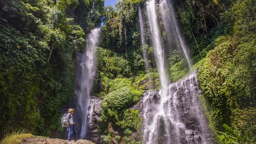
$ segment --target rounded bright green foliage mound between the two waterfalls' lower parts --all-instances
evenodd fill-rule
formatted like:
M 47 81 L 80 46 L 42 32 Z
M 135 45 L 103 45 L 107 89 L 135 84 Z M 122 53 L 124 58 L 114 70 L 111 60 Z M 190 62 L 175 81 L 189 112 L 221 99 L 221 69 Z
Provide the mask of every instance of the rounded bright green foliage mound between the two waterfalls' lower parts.
M 103 74 L 102 76 L 104 77 Z M 121 137 L 125 139 L 124 136 L 129 137 L 133 132 L 132 130 L 140 134 L 142 123 L 140 112 L 139 110 L 128 108 L 138 102 L 142 92 L 133 89 L 131 87 L 131 80 L 123 77 L 108 79 L 108 83 L 105 86 L 105 92 L 109 93 L 104 96 L 102 102 L 101 123 L 104 123 L 103 125 L 111 125 L 113 129 L 119 132 L 119 135 L 114 137 L 115 139 L 116 137 L 120 137 L 120 139 Z M 100 126 L 100 131 L 109 137 L 109 139 L 105 140 L 105 143 L 109 142 L 112 138 L 110 134 L 112 130 L 109 129 L 109 126 Z M 139 137 L 141 137 L 141 134 Z M 116 140 L 119 141 L 119 139 Z

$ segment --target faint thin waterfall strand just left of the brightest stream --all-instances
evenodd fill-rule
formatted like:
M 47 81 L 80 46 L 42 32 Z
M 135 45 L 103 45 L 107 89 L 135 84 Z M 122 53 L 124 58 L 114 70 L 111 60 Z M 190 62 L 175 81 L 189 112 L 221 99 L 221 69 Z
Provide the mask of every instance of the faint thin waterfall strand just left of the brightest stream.
M 142 46 L 145 45 L 145 35 L 144 35 L 143 24 L 144 24 L 144 21 L 143 21 L 143 17 L 142 17 L 142 13 L 141 13 L 141 8 L 139 6 L 139 26 L 140 26 L 140 38 L 141 38 Z M 144 48 L 142 49 L 142 56 L 144 59 L 145 69 L 148 70 L 149 69 L 148 54 Z

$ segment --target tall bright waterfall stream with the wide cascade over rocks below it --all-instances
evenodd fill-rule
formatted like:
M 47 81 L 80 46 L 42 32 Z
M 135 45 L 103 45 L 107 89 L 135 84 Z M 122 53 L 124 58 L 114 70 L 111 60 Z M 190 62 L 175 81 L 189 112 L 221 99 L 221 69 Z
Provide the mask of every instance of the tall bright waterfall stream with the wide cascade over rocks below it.
M 162 4 L 163 5 L 163 4 Z M 196 74 L 168 87 L 164 67 L 164 49 L 160 35 L 156 1 L 146 2 L 152 45 L 155 50 L 156 65 L 161 80 L 162 90 L 147 92 L 143 97 L 143 139 L 145 144 L 210 144 L 206 120 L 198 100 L 198 84 L 194 83 Z M 171 13 L 174 14 L 173 12 Z M 172 19 L 174 16 L 172 16 Z M 176 23 L 176 25 L 175 25 Z M 173 22 L 181 47 L 191 68 L 185 43 L 181 40 L 177 22 Z M 191 82 L 193 81 L 193 83 Z M 196 81 L 197 82 L 197 81 Z M 189 119 L 190 118 L 190 119 Z M 191 120 L 194 123 L 189 123 Z

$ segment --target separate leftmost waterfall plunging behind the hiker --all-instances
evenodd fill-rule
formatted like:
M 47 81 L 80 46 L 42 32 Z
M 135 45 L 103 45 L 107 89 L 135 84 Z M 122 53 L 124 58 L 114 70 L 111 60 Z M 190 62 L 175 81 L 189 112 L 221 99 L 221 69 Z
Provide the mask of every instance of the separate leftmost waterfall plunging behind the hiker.
M 88 107 L 90 104 L 90 93 L 95 76 L 95 47 L 99 39 L 100 28 L 91 30 L 86 39 L 86 52 L 78 53 L 78 64 L 76 66 L 75 94 L 77 97 L 77 109 L 79 113 L 82 139 L 85 138 L 87 130 Z

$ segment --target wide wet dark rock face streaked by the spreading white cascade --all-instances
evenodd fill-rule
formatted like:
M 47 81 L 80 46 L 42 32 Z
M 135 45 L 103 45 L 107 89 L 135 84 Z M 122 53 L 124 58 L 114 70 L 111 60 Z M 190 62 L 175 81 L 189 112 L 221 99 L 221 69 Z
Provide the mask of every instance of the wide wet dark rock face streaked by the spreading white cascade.
M 145 92 L 133 106 L 133 109 L 140 109 L 143 118 L 143 142 L 213 144 L 213 133 L 199 100 L 201 90 L 196 73 L 171 84 L 165 97 L 162 94 L 161 90 Z M 159 109 L 162 99 L 164 104 Z

